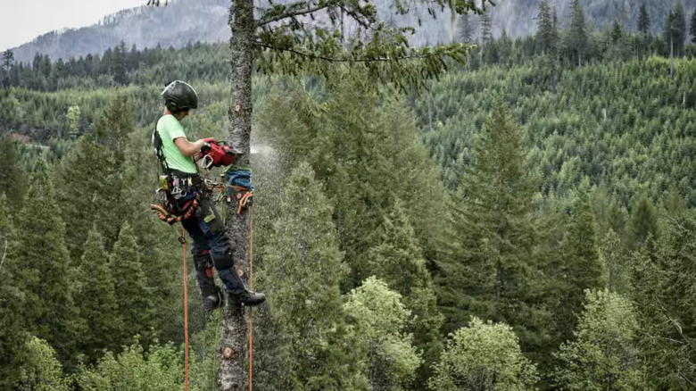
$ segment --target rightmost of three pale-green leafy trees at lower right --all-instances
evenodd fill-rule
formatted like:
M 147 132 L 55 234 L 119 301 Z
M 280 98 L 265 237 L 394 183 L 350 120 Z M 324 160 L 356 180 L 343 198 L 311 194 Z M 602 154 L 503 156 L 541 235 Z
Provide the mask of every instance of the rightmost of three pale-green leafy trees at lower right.
M 609 290 L 588 290 L 575 338 L 560 346 L 563 390 L 646 389 L 638 358 L 633 305 Z

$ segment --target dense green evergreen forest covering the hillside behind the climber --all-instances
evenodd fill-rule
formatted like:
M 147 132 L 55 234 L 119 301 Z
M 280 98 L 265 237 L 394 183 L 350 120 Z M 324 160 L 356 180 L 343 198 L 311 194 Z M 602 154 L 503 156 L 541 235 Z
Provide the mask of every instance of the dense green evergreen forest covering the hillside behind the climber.
M 419 88 L 254 73 L 255 389 L 696 389 L 696 13 L 558 12 L 460 16 L 468 62 Z M 227 138 L 228 56 L 4 52 L 0 389 L 183 389 L 184 281 L 215 389 L 220 311 L 149 209 L 151 135 L 181 79 L 187 137 Z

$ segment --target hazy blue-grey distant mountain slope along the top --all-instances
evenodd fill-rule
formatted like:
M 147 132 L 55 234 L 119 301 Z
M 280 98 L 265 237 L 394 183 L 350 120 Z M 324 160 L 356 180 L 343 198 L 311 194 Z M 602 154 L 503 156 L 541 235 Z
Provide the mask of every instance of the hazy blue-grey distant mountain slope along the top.
M 551 0 L 552 2 L 553 0 Z M 559 21 L 565 23 L 572 0 L 555 0 Z M 669 8 L 679 0 L 644 0 L 650 16 L 650 29 L 660 34 Z M 696 0 L 682 0 L 687 18 L 696 8 Z M 268 4 L 263 0 L 262 4 Z M 502 30 L 513 37 L 534 34 L 539 0 L 500 0 L 493 8 L 493 35 Z M 447 42 L 454 37 L 454 24 L 450 12 L 436 12 L 434 20 L 426 10 L 416 10 L 407 16 L 394 17 L 389 11 L 392 0 L 375 0 L 385 20 L 399 25 L 416 26 L 420 16 L 423 25 L 411 39 L 415 46 Z M 622 21 L 634 31 L 638 21 L 638 9 L 642 2 L 635 0 L 581 0 L 585 20 L 596 29 L 614 20 Z M 145 0 L 143 0 L 145 4 Z M 86 54 L 103 54 L 121 40 L 127 47 L 186 46 L 188 42 L 220 42 L 229 38 L 228 0 L 177 0 L 166 7 L 141 6 L 124 10 L 104 18 L 94 26 L 81 29 L 54 31 L 37 37 L 28 44 L 12 49 L 18 62 L 31 62 L 37 53 L 48 54 L 52 59 L 67 59 Z

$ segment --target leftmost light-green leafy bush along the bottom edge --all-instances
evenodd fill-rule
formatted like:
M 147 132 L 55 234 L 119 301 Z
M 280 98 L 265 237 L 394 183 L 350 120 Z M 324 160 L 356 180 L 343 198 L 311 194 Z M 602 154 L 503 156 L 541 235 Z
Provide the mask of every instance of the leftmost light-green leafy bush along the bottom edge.
M 22 366 L 17 391 L 69 391 L 69 382 L 63 378 L 61 363 L 54 349 L 45 340 L 32 337 L 26 346 L 28 360 Z

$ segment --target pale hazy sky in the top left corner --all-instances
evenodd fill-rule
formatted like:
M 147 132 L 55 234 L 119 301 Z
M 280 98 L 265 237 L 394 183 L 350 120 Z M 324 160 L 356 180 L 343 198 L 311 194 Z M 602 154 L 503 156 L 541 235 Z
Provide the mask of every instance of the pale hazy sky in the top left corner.
M 54 29 L 94 24 L 147 0 L 0 0 L 0 4 L 0 50 L 5 50 Z

